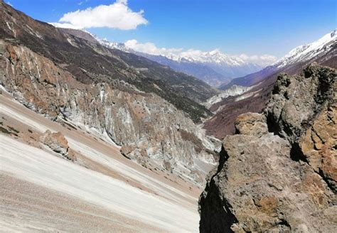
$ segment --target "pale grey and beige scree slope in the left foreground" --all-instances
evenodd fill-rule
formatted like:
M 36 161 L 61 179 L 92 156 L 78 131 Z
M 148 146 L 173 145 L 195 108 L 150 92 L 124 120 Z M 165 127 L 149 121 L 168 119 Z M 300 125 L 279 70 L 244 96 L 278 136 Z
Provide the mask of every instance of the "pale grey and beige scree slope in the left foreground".
M 1 95 L 0 232 L 198 232 L 200 188 Z M 33 140 L 60 131 L 71 162 Z

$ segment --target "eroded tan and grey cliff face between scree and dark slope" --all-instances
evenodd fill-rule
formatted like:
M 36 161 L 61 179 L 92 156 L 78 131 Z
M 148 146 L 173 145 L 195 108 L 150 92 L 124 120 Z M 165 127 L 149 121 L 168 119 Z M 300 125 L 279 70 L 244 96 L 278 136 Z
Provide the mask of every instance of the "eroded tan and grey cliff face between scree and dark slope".
M 207 171 L 200 164 L 214 163 L 213 144 L 203 131 L 156 94 L 118 80 L 78 82 L 48 58 L 4 40 L 0 67 L 1 85 L 26 107 L 114 141 L 143 166 L 151 163 L 202 183 Z

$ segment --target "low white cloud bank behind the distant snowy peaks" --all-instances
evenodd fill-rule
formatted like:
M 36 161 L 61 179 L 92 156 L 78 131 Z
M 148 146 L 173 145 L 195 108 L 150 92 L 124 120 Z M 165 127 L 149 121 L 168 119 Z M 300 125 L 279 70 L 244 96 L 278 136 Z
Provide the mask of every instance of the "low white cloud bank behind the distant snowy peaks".
M 154 43 L 139 43 L 137 40 L 127 40 L 124 43 L 127 48 L 131 48 L 137 52 L 148 53 L 151 55 L 164 55 L 173 60 L 179 60 L 179 58 L 187 58 L 188 60 L 199 60 L 206 61 L 212 55 L 220 55 L 224 60 L 232 58 L 233 63 L 255 63 L 261 66 L 271 65 L 277 61 L 277 57 L 274 55 L 227 55 L 222 53 L 219 49 L 215 49 L 209 52 L 188 49 L 183 50 L 182 48 L 159 48 Z

